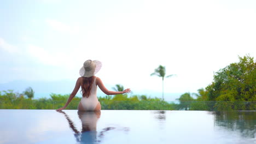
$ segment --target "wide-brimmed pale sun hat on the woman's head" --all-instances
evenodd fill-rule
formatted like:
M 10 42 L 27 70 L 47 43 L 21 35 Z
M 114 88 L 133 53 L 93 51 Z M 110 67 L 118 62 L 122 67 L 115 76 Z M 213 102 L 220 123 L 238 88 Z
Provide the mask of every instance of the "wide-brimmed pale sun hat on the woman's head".
M 101 69 L 100 61 L 87 60 L 84 62 L 84 66 L 79 70 L 80 76 L 91 77 L 94 76 Z

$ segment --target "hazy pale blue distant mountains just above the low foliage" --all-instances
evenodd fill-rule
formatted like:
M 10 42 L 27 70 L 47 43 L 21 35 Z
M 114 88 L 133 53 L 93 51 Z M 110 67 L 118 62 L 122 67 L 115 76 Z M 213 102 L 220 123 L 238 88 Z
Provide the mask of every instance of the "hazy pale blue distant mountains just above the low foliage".
M 56 81 L 25 81 L 25 80 L 16 80 L 11 81 L 8 83 L 0 83 L 0 91 L 6 91 L 8 89 L 14 90 L 14 92 L 22 93 L 25 91 L 27 87 L 32 87 L 34 90 L 34 99 L 38 98 L 50 98 L 51 93 L 56 94 L 70 94 L 73 91 L 73 88 L 75 86 L 75 80 L 56 80 Z M 105 84 L 105 86 L 110 90 L 113 91 L 112 87 L 114 85 Z M 143 91 L 132 91 L 132 94 L 130 95 L 147 95 L 151 98 L 162 98 L 161 92 L 143 92 Z M 173 101 L 179 98 L 179 96 L 182 93 L 165 93 L 165 100 L 167 101 Z M 104 96 L 104 94 L 100 88 L 98 88 L 97 91 L 98 97 Z M 82 97 L 80 94 L 80 90 L 77 93 L 78 97 Z

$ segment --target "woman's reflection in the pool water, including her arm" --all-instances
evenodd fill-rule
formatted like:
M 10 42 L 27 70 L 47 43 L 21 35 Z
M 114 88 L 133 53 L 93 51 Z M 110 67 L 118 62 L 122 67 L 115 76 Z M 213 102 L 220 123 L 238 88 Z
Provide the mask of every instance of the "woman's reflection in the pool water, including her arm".
M 80 143 L 97 142 L 97 121 L 101 117 L 101 111 L 78 111 L 78 117 L 82 122 L 82 130 L 75 128 L 74 123 L 69 116 L 63 112 L 69 123 L 69 127 L 74 131 L 75 139 Z M 98 141 L 99 142 L 99 141 Z

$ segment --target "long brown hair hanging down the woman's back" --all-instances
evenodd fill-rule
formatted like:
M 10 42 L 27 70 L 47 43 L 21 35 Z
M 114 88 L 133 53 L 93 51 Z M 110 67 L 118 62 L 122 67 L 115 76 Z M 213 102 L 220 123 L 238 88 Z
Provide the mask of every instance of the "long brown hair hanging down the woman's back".
M 94 83 L 94 76 L 91 77 L 83 77 L 83 83 L 82 83 L 82 93 L 83 93 L 83 97 L 89 97 L 89 95 L 91 94 L 91 88 L 92 88 L 92 84 Z

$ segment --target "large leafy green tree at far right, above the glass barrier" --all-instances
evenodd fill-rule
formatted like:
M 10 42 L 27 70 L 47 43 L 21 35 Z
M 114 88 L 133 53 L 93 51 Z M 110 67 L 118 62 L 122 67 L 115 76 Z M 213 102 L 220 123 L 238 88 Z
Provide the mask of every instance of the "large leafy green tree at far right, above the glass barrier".
M 238 57 L 214 74 L 211 85 L 206 87 L 208 99 L 212 101 L 256 101 L 256 63 L 253 57 Z

